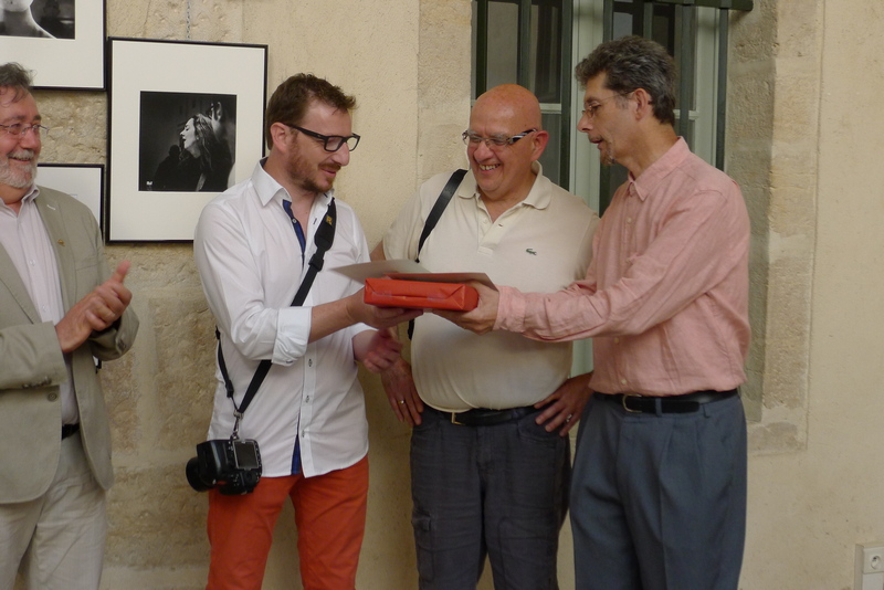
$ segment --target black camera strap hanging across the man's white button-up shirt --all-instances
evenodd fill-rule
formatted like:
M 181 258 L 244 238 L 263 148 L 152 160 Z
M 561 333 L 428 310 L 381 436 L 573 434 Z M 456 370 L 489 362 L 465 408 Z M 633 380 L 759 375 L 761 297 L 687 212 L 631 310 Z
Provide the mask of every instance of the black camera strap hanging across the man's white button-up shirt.
M 304 303 L 304 299 L 307 298 L 307 293 L 309 293 L 311 287 L 313 286 L 313 281 L 316 278 L 316 273 L 323 270 L 323 259 L 325 257 L 325 253 L 335 242 L 336 221 L 337 207 L 335 206 L 335 198 L 333 197 L 332 202 L 328 203 L 328 210 L 325 213 L 325 218 L 316 229 L 316 235 L 314 236 L 316 252 L 314 252 L 313 256 L 311 256 L 307 274 L 304 275 L 304 281 L 302 281 L 301 286 L 295 294 L 295 298 L 292 302 L 292 307 L 299 306 Z M 242 419 L 242 414 L 245 413 L 246 408 L 249 408 L 249 404 L 252 403 L 252 399 L 255 397 L 255 393 L 257 393 L 257 389 L 261 387 L 261 383 L 267 376 L 270 367 L 273 365 L 273 362 L 270 359 L 263 359 L 257 365 L 255 375 L 252 377 L 252 381 L 249 383 L 249 388 L 245 390 L 245 396 L 243 396 L 242 402 L 236 405 L 236 402 L 233 400 L 233 383 L 230 381 L 228 368 L 224 364 L 224 355 L 221 351 L 221 333 L 218 331 L 217 327 L 214 329 L 214 335 L 215 338 L 218 338 L 218 367 L 221 369 L 221 375 L 224 377 L 224 389 L 228 392 L 228 398 L 230 398 L 230 401 L 233 402 L 233 415 L 236 419 L 236 422 L 233 425 L 233 438 L 239 439 L 240 420 Z

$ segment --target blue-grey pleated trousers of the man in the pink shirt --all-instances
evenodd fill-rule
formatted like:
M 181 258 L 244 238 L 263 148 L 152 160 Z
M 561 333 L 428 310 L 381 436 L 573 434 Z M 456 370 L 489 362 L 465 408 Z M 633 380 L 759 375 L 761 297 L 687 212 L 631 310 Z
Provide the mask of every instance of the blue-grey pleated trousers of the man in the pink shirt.
M 571 527 L 577 590 L 736 590 L 746 535 L 739 397 L 684 414 L 590 399 Z

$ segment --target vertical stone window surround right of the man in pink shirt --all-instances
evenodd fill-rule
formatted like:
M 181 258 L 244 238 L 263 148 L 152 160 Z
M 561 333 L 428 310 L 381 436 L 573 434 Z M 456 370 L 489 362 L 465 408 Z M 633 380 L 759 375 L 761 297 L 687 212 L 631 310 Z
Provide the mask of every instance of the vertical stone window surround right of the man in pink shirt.
M 756 2 L 732 17 L 727 171 L 753 226 L 753 346 L 747 364 L 754 453 L 806 444 L 815 239 L 821 4 Z

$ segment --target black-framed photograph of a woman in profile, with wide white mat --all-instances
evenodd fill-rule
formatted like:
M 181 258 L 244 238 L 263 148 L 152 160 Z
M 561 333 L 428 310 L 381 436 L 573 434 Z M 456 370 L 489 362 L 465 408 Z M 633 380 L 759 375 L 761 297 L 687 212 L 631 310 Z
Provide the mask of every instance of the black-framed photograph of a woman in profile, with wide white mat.
M 108 39 L 108 242 L 189 242 L 264 152 L 267 45 Z

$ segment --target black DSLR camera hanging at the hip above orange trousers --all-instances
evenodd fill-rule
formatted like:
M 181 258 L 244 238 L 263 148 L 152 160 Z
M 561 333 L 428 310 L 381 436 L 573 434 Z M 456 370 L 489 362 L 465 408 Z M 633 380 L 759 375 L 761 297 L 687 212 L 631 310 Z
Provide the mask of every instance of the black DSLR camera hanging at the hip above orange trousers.
M 187 481 L 197 492 L 218 487 L 225 496 L 239 496 L 252 492 L 260 480 L 261 453 L 253 440 L 206 441 L 187 462 Z

